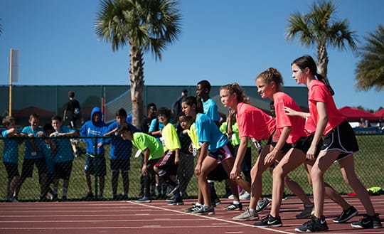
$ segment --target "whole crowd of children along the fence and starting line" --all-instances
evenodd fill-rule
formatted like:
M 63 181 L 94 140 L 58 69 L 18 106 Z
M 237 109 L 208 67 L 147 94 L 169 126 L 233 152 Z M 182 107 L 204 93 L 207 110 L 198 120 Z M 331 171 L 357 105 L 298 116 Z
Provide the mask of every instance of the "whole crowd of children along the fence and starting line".
M 257 75 L 255 84 L 262 98 L 272 100 L 273 117 L 251 105 L 240 85 L 233 83 L 220 87 L 220 101 L 229 109 L 224 121 L 218 115 L 217 105 L 209 97 L 208 80 L 196 85 L 196 97 L 180 100 L 181 111 L 178 108 L 180 112 L 174 113 L 178 117 L 177 124 L 172 123 L 171 109 L 157 109 L 154 103 L 148 105 L 148 115 L 141 129 L 127 122 L 124 109 L 118 110 L 116 121 L 107 126 L 102 122 L 102 111 L 95 107 L 90 121 L 85 122 L 79 131 L 63 125 L 63 119 L 58 116 L 53 117 L 50 124 L 39 127 L 39 117 L 33 114 L 29 119 L 30 126 L 18 132 L 15 119 L 4 117 L 3 161 L 9 177 L 7 201 L 18 201 L 21 186 L 26 178 L 32 176 L 34 165 L 38 169 L 41 201 L 47 199 L 48 193 L 52 194 L 53 200 L 58 200 L 59 179 L 63 179 L 65 201 L 73 164 L 70 137 L 80 134 L 81 137 L 88 137 L 82 138 L 87 144 L 84 167 L 87 193 L 84 199 L 103 196 L 107 174 L 105 144 L 110 144 L 113 198 L 118 198 L 120 174 L 124 188 L 122 198 L 128 198 L 128 172 L 133 145 L 138 149 L 137 156 L 142 154 L 142 198 L 137 203 L 151 202 L 157 195 L 169 197 L 166 200 L 169 205 L 183 205 L 183 198 L 188 196 L 186 188 L 195 174 L 198 199 L 186 212 L 215 214 L 215 206 L 220 200 L 215 194 L 214 181 L 225 180 L 233 194 L 233 204 L 225 206 L 226 210 L 242 210 L 239 192 L 250 199 L 249 207 L 233 220 L 259 220 L 258 213 L 270 205 L 267 198 L 260 198 L 262 174 L 270 168 L 273 177 L 272 208 L 269 215 L 254 225 L 282 226 L 279 209 L 285 185 L 304 203 L 304 211 L 296 218 L 311 217 L 295 230 L 318 232 L 329 229 L 324 217 L 325 196 L 343 209 L 341 215 L 333 220 L 335 223 L 345 223 L 358 214 L 356 208 L 324 181 L 326 169 L 338 161 L 343 178 L 366 208 L 366 216 L 351 225 L 354 228 L 380 228 L 380 218 L 354 171 L 353 154 L 358 151 L 358 144 L 346 118 L 336 109 L 332 97 L 334 91 L 327 80 L 317 73 L 316 63 L 310 56 L 297 58 L 291 66 L 292 78 L 309 89 L 309 113 L 302 112 L 292 97 L 282 92 L 283 79 L 279 71 L 268 68 Z M 262 139 L 267 140 L 264 147 L 260 145 Z M 18 144 L 23 142 L 25 149 L 20 175 L 17 149 Z M 252 142 L 259 150 L 253 166 L 250 153 Z M 195 165 L 194 157 L 197 157 Z M 287 176 L 302 164 L 313 187 L 313 203 L 302 188 Z M 99 194 L 92 193 L 91 174 L 98 178 Z M 53 188 L 50 188 L 51 183 Z

